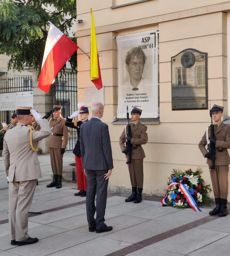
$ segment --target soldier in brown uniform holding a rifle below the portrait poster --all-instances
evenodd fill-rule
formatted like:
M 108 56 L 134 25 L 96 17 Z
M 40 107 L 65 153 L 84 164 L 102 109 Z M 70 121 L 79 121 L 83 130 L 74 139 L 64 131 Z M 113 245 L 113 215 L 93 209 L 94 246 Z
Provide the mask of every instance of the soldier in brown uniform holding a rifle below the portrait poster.
M 141 124 L 139 122 L 139 118 L 142 110 L 134 107 L 131 111 L 131 137 L 125 134 L 125 130 L 123 130 L 120 138 L 119 144 L 122 153 L 126 155 L 128 158 L 128 149 L 125 147 L 126 138 L 131 144 L 136 145 L 136 148 L 132 148 L 131 164 L 128 164 L 128 170 L 132 185 L 132 194 L 129 198 L 125 199 L 125 202 L 140 203 L 142 201 L 141 193 L 143 190 L 143 159 L 145 157 L 144 150 L 141 147 L 142 144 L 147 143 L 148 135 L 147 135 L 147 126 Z

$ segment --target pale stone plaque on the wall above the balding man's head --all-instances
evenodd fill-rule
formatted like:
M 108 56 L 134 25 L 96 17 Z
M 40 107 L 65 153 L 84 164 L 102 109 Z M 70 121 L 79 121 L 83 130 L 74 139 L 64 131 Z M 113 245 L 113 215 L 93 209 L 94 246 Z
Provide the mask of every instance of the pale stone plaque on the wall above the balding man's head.
M 101 102 L 103 105 L 105 105 L 104 87 L 102 87 L 100 90 L 98 90 L 96 86 L 85 87 L 84 94 L 86 107 L 91 107 L 92 103 L 95 101 Z

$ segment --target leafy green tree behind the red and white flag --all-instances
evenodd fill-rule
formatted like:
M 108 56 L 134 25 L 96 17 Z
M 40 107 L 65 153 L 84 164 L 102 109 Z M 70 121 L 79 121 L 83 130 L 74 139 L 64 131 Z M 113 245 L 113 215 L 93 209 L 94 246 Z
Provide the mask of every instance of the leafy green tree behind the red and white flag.
M 40 72 L 51 21 L 65 35 L 76 19 L 76 0 L 0 0 L 0 54 L 10 55 L 8 69 L 23 65 Z M 75 41 L 74 35 L 71 39 Z M 77 68 L 77 53 L 71 59 Z

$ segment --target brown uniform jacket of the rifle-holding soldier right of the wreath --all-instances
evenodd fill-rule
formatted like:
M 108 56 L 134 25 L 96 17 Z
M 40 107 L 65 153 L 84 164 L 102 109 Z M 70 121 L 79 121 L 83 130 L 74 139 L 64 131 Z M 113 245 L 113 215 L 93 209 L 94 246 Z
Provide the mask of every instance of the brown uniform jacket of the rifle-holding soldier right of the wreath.
M 210 126 L 208 128 L 208 137 L 211 137 L 211 130 Z M 216 132 L 216 143 L 215 143 L 215 165 L 228 165 L 230 164 L 230 157 L 228 155 L 227 148 L 230 148 L 230 126 L 226 125 L 224 123 L 221 123 Z M 205 146 L 207 145 L 207 139 L 206 139 L 206 132 L 204 133 L 200 143 L 199 143 L 199 149 L 202 152 L 203 156 L 207 154 L 207 149 Z M 219 152 L 218 148 L 223 148 L 223 152 Z M 212 160 L 207 158 L 207 164 L 212 165 Z

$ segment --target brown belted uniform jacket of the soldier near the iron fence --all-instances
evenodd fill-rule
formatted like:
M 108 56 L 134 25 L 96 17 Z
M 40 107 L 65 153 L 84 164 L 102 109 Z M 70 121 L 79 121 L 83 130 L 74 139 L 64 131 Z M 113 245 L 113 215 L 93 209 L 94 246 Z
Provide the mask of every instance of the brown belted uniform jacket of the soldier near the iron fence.
M 55 121 L 55 118 L 49 120 L 49 127 L 51 132 L 56 134 L 63 134 L 63 136 L 50 135 L 46 143 L 47 147 L 52 148 L 66 148 L 69 142 L 69 127 L 65 126 L 66 119 L 60 117 Z

